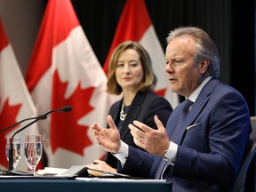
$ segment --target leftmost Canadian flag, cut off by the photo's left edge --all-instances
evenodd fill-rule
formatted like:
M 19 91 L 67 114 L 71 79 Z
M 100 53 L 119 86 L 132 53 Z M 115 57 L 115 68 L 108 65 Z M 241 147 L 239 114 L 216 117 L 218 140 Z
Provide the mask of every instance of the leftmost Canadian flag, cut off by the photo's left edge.
M 0 168 L 7 169 L 8 161 L 5 156 L 5 145 L 8 137 L 12 137 L 26 123 L 18 124 L 12 129 L 5 129 L 23 119 L 36 116 L 36 107 L 28 92 L 28 87 L 21 74 L 18 61 L 12 50 L 12 45 L 4 31 L 0 20 Z M 29 121 L 28 121 L 29 123 Z M 28 124 L 27 123 L 27 124 Z M 4 131 L 6 130 L 6 131 Z M 38 133 L 37 125 L 33 124 L 28 129 L 15 136 L 21 138 L 21 157 L 17 170 L 28 170 L 24 156 L 24 140 L 26 134 Z

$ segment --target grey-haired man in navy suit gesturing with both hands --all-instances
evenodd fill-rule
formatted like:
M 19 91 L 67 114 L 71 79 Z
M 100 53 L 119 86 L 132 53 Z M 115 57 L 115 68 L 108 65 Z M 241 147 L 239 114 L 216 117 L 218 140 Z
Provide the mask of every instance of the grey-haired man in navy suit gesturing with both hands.
M 166 130 L 157 116 L 157 130 L 139 121 L 129 124 L 135 144 L 148 152 L 120 140 L 111 116 L 108 132 L 92 124 L 95 139 L 118 158 L 119 172 L 165 179 L 172 183 L 172 191 L 231 191 L 252 145 L 243 96 L 218 80 L 219 54 L 200 28 L 171 31 L 165 60 L 172 92 L 186 100 L 173 110 Z

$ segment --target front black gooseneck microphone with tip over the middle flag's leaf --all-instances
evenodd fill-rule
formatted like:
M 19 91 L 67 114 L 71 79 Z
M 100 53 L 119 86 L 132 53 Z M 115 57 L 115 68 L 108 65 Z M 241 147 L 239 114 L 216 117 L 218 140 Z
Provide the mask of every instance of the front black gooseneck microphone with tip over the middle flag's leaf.
M 59 109 L 54 109 L 54 110 L 51 110 L 51 111 L 48 111 L 47 113 L 41 115 L 41 116 L 37 116 L 37 118 L 30 122 L 29 124 L 23 126 L 22 128 L 20 128 L 17 132 L 14 132 L 14 134 L 12 135 L 12 138 L 10 140 L 10 147 L 9 147 L 9 170 L 12 171 L 13 167 L 12 167 L 12 164 L 13 164 L 13 146 L 12 146 L 12 139 L 13 137 L 21 132 L 22 130 L 26 129 L 28 126 L 30 126 L 31 124 L 35 124 L 37 121 L 41 120 L 41 119 L 44 119 L 46 118 L 49 114 L 53 113 L 53 112 L 69 112 L 71 111 L 72 108 L 70 106 L 66 106 L 66 107 L 63 107 L 63 108 L 59 108 Z

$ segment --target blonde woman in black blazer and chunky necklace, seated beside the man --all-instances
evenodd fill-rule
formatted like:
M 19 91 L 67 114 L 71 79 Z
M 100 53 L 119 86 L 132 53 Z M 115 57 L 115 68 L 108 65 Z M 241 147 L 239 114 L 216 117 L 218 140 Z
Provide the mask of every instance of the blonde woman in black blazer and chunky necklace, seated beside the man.
M 154 116 L 165 125 L 172 113 L 170 103 L 153 92 L 155 85 L 156 76 L 148 52 L 137 42 L 119 44 L 109 62 L 107 92 L 123 94 L 123 98 L 111 106 L 109 115 L 119 129 L 121 140 L 135 148 L 138 147 L 133 142 L 128 124 L 139 120 L 156 129 Z M 116 172 L 116 165 L 116 157 L 108 153 L 105 161 L 95 160 L 88 166 Z

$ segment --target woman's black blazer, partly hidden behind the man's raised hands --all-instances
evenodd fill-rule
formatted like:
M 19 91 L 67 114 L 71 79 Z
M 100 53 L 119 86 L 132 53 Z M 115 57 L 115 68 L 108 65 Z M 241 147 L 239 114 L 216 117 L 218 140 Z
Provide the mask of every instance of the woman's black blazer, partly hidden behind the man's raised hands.
M 115 124 L 118 124 L 119 122 L 122 101 L 123 100 L 119 100 L 114 103 L 109 110 L 109 114 L 113 117 Z M 122 127 L 119 128 L 121 140 L 130 146 L 138 148 L 133 142 L 132 134 L 130 133 L 128 124 L 132 124 L 132 121 L 138 120 L 156 129 L 154 116 L 157 115 L 165 125 L 171 113 L 172 107 L 170 103 L 163 97 L 156 95 L 154 92 L 138 92 L 132 100 L 132 104 L 129 108 Z M 108 153 L 105 161 L 110 166 L 116 168 L 117 159 L 115 156 L 112 156 L 110 153 Z

